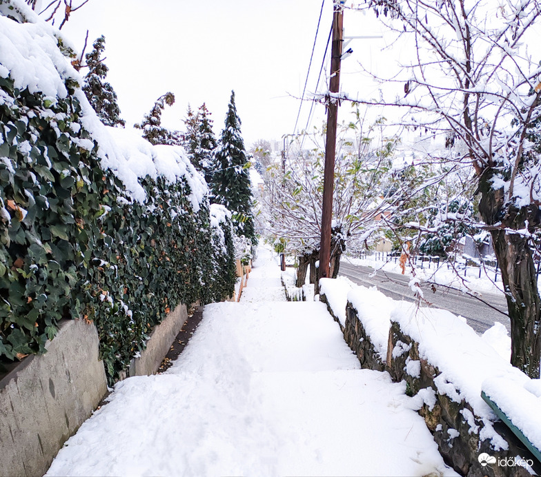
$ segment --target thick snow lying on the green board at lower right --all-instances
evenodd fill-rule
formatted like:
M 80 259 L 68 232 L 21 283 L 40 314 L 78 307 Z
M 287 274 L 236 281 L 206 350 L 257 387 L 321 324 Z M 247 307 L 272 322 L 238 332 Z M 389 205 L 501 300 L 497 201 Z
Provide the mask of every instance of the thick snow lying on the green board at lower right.
M 482 389 L 541 451 L 541 380 L 508 373 L 484 380 Z

